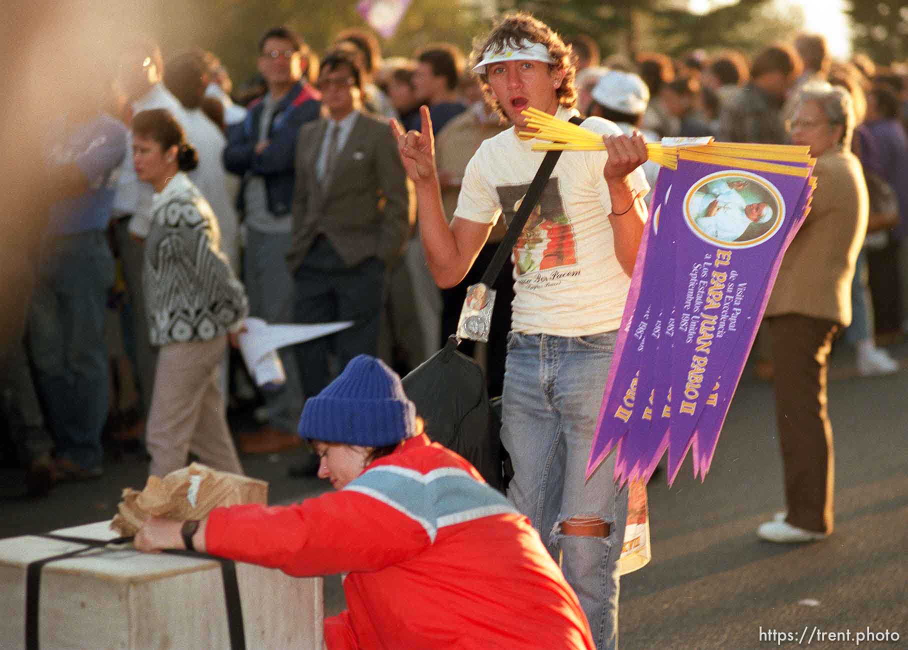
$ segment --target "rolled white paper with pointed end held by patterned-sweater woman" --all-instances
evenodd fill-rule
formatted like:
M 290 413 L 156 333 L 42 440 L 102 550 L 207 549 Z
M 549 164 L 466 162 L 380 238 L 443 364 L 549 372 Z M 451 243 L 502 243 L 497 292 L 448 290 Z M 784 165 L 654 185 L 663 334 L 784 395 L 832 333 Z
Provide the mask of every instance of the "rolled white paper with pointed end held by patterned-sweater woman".
M 256 385 L 280 385 L 286 379 L 277 350 L 346 330 L 352 320 L 310 325 L 269 325 L 262 319 L 247 318 L 240 334 L 240 353 Z

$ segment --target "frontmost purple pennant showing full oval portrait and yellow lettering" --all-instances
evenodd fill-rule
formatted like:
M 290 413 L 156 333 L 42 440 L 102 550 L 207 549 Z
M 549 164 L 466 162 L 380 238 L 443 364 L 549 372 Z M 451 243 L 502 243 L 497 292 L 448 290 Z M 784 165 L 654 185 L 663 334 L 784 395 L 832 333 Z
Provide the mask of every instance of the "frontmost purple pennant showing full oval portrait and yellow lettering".
M 794 208 L 806 185 L 796 176 L 689 161 L 678 162 L 675 177 L 686 192 L 676 192 L 666 210 L 686 227 L 678 229 L 676 252 L 670 482 L 694 444 L 703 409 L 718 399 L 714 388 L 725 361 L 742 351 L 738 335 L 747 320 L 762 316 L 766 275 L 794 221 L 785 196 Z

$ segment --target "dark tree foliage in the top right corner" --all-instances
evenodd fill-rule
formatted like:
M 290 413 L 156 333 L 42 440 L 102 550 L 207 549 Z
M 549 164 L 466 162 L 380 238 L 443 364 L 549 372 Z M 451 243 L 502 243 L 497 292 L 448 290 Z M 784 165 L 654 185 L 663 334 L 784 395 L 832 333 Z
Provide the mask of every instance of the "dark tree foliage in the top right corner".
M 878 64 L 908 58 L 908 2 L 854 0 L 848 15 L 855 50 L 866 52 Z

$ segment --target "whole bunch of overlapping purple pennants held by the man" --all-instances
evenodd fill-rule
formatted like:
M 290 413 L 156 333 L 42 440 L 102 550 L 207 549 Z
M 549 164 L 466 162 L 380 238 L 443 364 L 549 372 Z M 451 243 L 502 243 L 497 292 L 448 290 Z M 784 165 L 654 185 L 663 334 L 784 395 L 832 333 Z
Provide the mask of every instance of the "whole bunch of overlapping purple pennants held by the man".
M 614 449 L 616 481 L 646 481 L 667 448 L 672 483 L 693 447 L 705 477 L 809 173 L 806 155 L 785 167 L 682 156 L 660 171 L 587 476 Z

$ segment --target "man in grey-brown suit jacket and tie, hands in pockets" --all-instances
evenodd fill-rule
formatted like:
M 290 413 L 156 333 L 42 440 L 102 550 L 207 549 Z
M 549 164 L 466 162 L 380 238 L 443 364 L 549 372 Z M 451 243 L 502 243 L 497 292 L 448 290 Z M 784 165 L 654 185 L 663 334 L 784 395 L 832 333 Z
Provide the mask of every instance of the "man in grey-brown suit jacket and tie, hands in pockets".
M 412 186 L 383 120 L 361 112 L 362 74 L 347 53 L 321 63 L 321 120 L 296 146 L 291 248 L 294 320 L 352 320 L 331 337 L 297 346 L 303 390 L 315 395 L 358 354 L 375 355 L 385 271 L 415 220 Z

